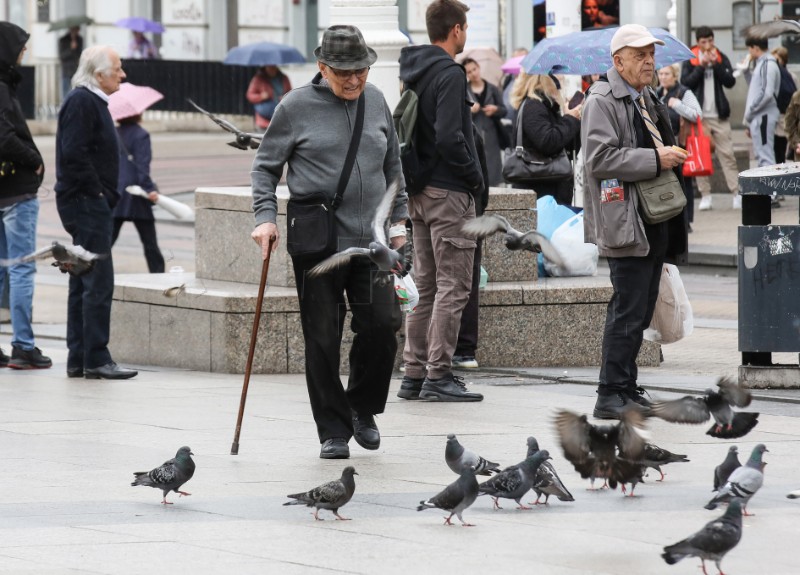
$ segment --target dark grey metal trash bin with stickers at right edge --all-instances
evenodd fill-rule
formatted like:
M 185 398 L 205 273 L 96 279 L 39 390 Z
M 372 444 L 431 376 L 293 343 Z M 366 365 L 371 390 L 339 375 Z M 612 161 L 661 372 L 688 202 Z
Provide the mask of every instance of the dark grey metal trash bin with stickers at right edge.
M 800 388 L 800 364 L 772 361 L 775 352 L 800 352 L 800 225 L 771 225 L 773 192 L 800 195 L 800 164 L 739 174 L 739 380 Z

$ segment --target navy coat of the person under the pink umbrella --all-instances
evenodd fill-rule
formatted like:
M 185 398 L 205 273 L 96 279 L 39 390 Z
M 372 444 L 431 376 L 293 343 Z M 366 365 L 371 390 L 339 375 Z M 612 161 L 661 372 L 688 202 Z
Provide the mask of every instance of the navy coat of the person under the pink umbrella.
M 150 200 L 132 196 L 125 191 L 128 186 L 141 186 L 146 192 L 156 189 L 150 179 L 150 134 L 139 124 L 125 124 L 117 128 L 119 134 L 119 203 L 114 208 L 118 220 L 152 220 L 153 204 Z

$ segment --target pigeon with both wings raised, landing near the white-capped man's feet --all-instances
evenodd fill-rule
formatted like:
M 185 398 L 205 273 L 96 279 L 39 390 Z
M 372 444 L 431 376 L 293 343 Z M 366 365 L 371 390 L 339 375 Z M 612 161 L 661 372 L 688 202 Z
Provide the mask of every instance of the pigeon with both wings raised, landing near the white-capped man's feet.
M 556 414 L 556 432 L 564 457 L 584 479 L 602 477 L 612 489 L 641 475 L 644 438 L 643 418 L 628 410 L 615 425 L 592 425 L 585 415 L 563 409 Z

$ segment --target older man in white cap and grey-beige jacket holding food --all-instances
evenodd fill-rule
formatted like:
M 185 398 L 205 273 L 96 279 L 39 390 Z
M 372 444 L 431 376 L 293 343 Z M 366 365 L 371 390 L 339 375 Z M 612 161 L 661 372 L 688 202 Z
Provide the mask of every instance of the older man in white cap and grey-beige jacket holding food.
M 613 67 L 592 85 L 583 106 L 586 241 L 607 258 L 614 288 L 594 408 L 600 419 L 648 409 L 636 381 L 636 357 L 653 317 L 664 260 L 686 251 L 683 213 L 658 224 L 645 222 L 634 186 L 663 170 L 673 170 L 680 180 L 686 160 L 672 147 L 668 112 L 649 87 L 656 44 L 664 42 L 644 26 L 621 26 L 611 40 Z

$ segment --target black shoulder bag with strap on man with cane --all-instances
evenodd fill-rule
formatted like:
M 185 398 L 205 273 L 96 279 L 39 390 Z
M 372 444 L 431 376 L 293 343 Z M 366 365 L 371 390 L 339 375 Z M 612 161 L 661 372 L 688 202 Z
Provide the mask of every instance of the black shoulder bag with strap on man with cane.
M 325 192 L 315 192 L 286 205 L 286 250 L 290 256 L 330 255 L 336 252 L 336 209 L 353 171 L 361 132 L 364 128 L 364 93 L 358 98 L 356 123 L 344 161 L 336 195 L 330 200 Z

